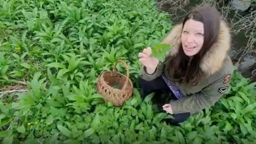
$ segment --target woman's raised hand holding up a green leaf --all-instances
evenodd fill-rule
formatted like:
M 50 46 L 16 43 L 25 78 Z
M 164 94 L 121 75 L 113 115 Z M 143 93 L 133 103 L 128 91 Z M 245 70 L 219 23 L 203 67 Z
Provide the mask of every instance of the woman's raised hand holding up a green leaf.
M 151 47 L 147 47 L 142 51 L 142 53 L 141 52 L 139 53 L 139 61 L 143 66 L 147 68 L 147 72 L 149 74 L 154 73 L 159 62 L 158 59 L 154 57 L 150 57 L 151 53 L 152 53 Z

